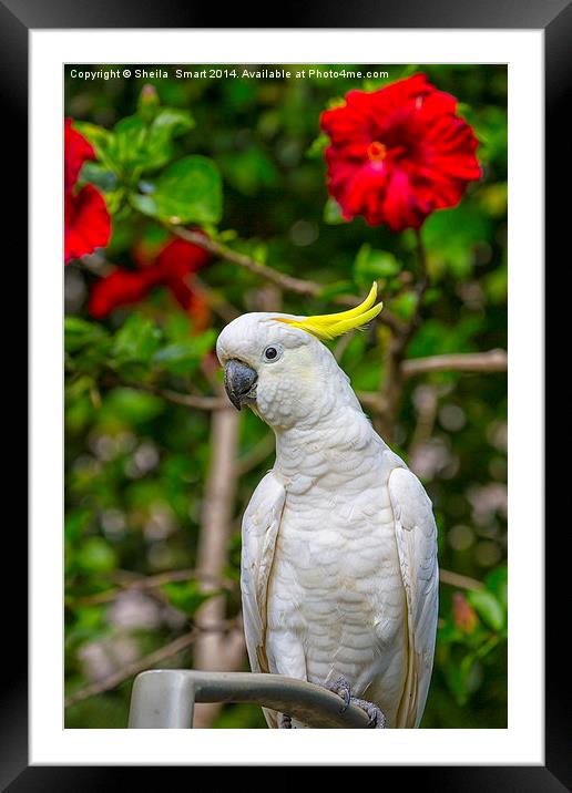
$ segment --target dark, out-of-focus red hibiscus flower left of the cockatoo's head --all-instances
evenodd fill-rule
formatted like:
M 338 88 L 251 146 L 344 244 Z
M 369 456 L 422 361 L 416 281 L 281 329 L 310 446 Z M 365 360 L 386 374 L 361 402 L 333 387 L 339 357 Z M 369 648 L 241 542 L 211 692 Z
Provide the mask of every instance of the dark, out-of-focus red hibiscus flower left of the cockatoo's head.
M 137 270 L 118 267 L 95 284 L 90 296 L 90 313 L 98 319 L 114 308 L 140 302 L 151 289 L 166 286 L 178 305 L 193 316 L 197 330 L 208 323 L 205 301 L 188 285 L 188 276 L 208 264 L 211 255 L 184 239 L 172 239 L 149 261 L 146 251 L 137 251 Z

